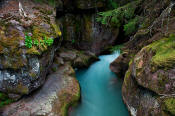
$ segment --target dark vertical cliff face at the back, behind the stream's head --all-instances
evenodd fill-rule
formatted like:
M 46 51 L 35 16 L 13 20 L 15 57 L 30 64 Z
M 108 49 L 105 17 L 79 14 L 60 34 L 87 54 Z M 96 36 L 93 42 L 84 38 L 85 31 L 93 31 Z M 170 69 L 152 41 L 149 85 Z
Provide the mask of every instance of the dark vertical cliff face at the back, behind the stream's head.
M 119 29 L 98 24 L 95 14 L 67 14 L 63 20 L 65 46 L 73 46 L 99 55 L 105 47 L 117 41 Z

